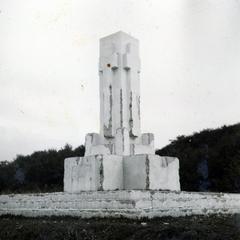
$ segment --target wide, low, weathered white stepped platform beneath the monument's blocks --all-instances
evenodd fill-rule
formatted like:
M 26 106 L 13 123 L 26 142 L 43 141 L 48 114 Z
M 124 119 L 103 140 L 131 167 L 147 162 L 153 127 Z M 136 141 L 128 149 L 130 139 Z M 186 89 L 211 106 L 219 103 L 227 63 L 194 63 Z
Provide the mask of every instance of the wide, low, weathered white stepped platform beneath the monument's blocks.
M 0 215 L 163 217 L 240 213 L 240 194 L 95 191 L 0 195 Z

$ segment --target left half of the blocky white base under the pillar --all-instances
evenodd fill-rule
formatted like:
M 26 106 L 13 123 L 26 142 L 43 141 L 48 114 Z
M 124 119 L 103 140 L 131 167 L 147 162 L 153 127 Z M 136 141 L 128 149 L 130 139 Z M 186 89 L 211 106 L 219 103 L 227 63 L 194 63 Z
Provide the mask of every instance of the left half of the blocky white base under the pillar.
M 116 190 L 123 188 L 122 157 L 94 155 L 65 159 L 64 191 Z

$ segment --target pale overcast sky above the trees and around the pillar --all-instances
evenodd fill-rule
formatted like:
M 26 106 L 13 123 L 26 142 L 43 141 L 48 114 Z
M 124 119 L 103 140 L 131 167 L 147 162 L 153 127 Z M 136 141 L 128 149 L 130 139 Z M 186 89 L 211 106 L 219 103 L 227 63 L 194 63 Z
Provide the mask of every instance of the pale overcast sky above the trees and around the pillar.
M 99 132 L 99 38 L 120 30 L 155 148 L 240 122 L 240 0 L 0 0 L 0 161 Z

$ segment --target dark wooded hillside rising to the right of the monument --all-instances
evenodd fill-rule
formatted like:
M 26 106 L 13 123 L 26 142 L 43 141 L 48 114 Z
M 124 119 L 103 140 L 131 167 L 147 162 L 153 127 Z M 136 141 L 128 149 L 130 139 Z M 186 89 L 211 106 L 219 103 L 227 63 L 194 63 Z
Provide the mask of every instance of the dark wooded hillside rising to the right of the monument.
M 240 192 L 240 124 L 179 136 L 156 153 L 179 158 L 182 190 Z

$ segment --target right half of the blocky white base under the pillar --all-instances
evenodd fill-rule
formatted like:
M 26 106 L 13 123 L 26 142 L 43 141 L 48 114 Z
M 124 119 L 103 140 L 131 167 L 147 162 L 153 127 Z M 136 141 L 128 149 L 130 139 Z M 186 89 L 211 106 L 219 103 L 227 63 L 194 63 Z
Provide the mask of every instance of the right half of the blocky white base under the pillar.
M 152 154 L 124 157 L 124 189 L 180 190 L 179 160 Z

